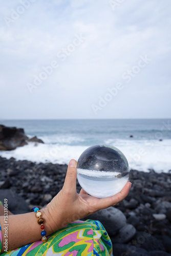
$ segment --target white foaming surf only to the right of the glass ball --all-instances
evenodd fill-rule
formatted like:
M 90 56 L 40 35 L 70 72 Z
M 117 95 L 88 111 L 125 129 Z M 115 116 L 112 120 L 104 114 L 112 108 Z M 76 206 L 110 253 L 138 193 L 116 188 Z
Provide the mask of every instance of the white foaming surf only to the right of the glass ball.
M 115 143 L 130 168 L 145 172 L 154 169 L 158 173 L 171 169 L 171 140 L 108 140 L 105 143 Z

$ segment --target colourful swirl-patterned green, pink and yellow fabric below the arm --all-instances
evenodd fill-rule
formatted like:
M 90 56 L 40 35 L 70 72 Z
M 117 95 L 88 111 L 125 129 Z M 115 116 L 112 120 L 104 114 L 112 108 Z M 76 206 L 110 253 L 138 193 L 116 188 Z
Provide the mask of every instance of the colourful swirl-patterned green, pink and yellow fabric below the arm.
M 1 234 L 1 233 L 0 233 Z M 2 234 L 0 235 L 2 236 Z M 1 246 L 2 246 L 2 237 Z M 1 247 L 2 248 L 2 247 Z M 46 243 L 32 244 L 9 250 L 2 256 L 112 256 L 112 242 L 99 221 L 74 221 L 48 236 Z

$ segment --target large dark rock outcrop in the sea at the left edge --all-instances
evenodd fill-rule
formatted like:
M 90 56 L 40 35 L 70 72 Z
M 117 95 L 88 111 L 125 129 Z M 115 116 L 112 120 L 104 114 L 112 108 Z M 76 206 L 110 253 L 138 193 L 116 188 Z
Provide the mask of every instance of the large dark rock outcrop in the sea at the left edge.
M 0 124 L 0 150 L 15 150 L 17 146 L 27 145 L 24 129 Z

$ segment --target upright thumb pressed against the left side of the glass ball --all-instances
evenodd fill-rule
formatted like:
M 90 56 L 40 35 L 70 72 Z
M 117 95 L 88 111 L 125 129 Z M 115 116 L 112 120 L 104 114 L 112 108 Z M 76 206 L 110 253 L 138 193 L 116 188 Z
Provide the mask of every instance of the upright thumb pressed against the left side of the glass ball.
M 75 193 L 76 191 L 76 180 L 77 180 L 77 161 L 72 159 L 69 162 L 68 169 L 67 169 L 67 175 L 65 178 L 65 182 L 63 184 L 63 189 L 65 191 L 69 191 L 70 193 Z

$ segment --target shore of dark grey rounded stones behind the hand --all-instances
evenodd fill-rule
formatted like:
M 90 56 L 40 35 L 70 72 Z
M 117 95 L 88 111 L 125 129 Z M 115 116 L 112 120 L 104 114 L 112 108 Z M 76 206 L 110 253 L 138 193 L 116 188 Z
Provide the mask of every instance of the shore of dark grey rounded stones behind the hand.
M 9 210 L 19 214 L 51 201 L 62 188 L 67 165 L 0 157 L 0 170 L 0 200 L 8 198 Z M 104 225 L 115 256 L 171 255 L 170 173 L 131 170 L 130 181 L 132 188 L 125 200 L 88 218 Z

